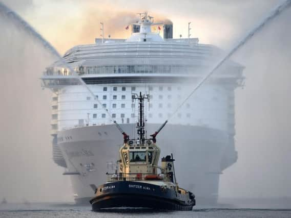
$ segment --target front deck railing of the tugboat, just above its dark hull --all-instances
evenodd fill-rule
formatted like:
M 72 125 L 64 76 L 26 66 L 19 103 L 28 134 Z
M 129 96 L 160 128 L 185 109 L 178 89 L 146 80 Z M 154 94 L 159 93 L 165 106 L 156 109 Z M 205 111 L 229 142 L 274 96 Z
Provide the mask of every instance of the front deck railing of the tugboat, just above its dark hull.
M 144 173 L 119 173 L 119 174 L 107 174 L 108 182 L 115 181 L 149 181 L 149 180 L 164 180 L 156 174 L 144 174 Z M 146 179 L 148 175 L 157 176 L 156 179 Z

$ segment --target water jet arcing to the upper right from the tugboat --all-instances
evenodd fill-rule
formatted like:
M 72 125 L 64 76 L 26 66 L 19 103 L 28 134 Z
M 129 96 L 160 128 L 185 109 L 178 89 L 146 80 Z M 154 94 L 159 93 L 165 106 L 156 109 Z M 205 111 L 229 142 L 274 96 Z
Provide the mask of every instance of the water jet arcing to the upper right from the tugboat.
M 187 98 L 177 107 L 177 109 L 171 114 L 168 120 L 170 120 L 178 111 L 179 109 L 190 99 L 190 97 L 194 94 L 194 92 L 200 88 L 203 83 L 214 74 L 214 72 L 228 59 L 230 58 L 242 45 L 244 45 L 248 40 L 250 40 L 259 30 L 261 30 L 269 21 L 273 20 L 276 16 L 278 16 L 281 12 L 291 6 L 291 0 L 287 0 L 281 5 L 277 6 L 273 11 L 269 13 L 267 17 L 265 17 L 258 25 L 255 26 L 250 32 L 244 36 L 239 43 L 234 46 L 234 48 L 228 52 L 226 56 L 224 56 L 220 61 L 218 61 L 212 70 L 207 74 L 193 89 L 193 91 L 187 96 Z

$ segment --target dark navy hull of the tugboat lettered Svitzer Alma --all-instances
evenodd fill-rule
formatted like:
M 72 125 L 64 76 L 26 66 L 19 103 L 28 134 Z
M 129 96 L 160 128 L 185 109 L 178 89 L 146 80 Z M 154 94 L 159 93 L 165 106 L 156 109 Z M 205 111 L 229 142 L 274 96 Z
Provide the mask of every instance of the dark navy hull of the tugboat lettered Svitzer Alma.
M 180 197 L 180 198 L 179 198 Z M 165 210 L 192 210 L 195 199 L 176 195 L 176 191 L 143 182 L 120 181 L 101 185 L 90 200 L 94 211 L 118 207 L 142 207 Z

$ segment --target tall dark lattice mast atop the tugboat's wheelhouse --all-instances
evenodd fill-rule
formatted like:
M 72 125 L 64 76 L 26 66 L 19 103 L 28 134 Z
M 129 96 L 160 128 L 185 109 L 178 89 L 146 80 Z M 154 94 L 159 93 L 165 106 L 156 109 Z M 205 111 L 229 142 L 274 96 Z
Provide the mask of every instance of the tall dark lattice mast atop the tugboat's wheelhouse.
M 139 139 L 141 143 L 143 144 L 144 141 L 146 140 L 144 138 L 144 113 L 143 113 L 143 102 L 144 99 L 147 99 L 150 101 L 150 96 L 149 94 L 147 95 L 141 95 L 141 92 L 139 92 L 139 95 L 136 93 L 132 94 L 132 101 L 138 100 L 138 116 L 139 116 L 139 121 L 137 123 L 137 134 L 139 135 Z

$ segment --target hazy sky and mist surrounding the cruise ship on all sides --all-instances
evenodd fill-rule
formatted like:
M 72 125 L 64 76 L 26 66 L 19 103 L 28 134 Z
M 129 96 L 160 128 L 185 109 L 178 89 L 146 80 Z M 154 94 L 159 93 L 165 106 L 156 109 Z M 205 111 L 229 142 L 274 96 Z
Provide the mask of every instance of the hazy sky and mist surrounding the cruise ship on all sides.
M 106 23 L 106 36 L 129 36 L 130 31 L 124 28 L 135 20 L 135 12 L 140 12 L 140 8 L 153 11 L 161 19 L 170 18 L 174 22 L 175 37 L 180 33 L 186 36 L 186 21 L 192 20 L 192 37 L 227 51 L 282 1 L 183 1 L 179 6 L 170 1 L 168 7 L 162 6 L 169 1 L 161 1 L 154 8 L 150 6 L 151 1 L 144 7 L 132 2 L 124 8 L 124 2 L 118 1 L 112 11 L 112 4 L 106 1 L 98 4 L 92 1 L 4 2 L 64 53 L 74 45 L 94 43 L 94 38 L 100 35 L 100 21 Z M 61 14 L 59 8 L 68 4 L 70 13 Z M 57 7 L 52 10 L 54 6 Z M 56 15 L 53 17 L 53 14 Z M 245 67 L 246 80 L 245 87 L 236 90 L 238 161 L 221 175 L 220 197 L 291 197 L 290 14 L 288 9 L 268 23 L 232 57 Z M 124 19 L 120 20 L 120 16 Z M 58 23 L 57 18 L 60 18 Z M 45 67 L 55 60 L 9 20 L 1 17 L 0 25 L 0 173 L 3 175 L 0 199 L 72 201 L 70 180 L 61 175 L 64 169 L 52 160 L 51 92 L 41 90 L 39 80 Z

